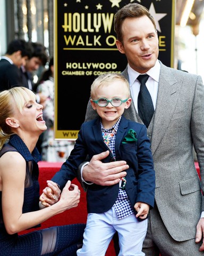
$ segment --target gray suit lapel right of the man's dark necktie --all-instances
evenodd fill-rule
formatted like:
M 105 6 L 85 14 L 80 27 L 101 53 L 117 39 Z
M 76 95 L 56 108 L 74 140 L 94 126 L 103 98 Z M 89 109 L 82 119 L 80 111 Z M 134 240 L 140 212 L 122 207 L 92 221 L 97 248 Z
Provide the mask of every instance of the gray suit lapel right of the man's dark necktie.
M 175 111 L 182 83 L 171 73 L 171 69 L 160 63 L 157 103 L 151 137 L 151 151 L 155 153 L 160 141 L 168 129 L 169 122 Z

